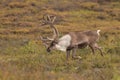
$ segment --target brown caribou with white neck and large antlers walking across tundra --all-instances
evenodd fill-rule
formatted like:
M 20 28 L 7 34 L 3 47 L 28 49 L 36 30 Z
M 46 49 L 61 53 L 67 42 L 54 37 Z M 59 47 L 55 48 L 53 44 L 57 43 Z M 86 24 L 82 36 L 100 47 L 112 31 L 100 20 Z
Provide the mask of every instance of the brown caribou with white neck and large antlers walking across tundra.
M 95 54 L 95 50 L 98 49 L 101 53 L 101 56 L 103 56 L 101 47 L 99 47 L 97 44 L 100 37 L 100 30 L 68 32 L 59 38 L 59 32 L 54 26 L 55 19 L 55 16 L 43 16 L 42 26 L 49 25 L 54 33 L 52 38 L 43 36 L 40 37 L 43 44 L 47 48 L 47 52 L 50 52 L 51 50 L 60 50 L 66 52 L 66 58 L 68 59 L 70 52 L 72 51 L 72 58 L 81 58 L 80 56 L 75 55 L 76 50 L 89 46 L 93 54 Z

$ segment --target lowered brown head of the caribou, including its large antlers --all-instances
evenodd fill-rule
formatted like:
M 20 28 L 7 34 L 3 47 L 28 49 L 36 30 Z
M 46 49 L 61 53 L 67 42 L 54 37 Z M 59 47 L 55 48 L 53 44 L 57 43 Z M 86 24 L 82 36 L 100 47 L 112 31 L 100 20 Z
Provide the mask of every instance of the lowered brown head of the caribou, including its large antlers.
M 59 39 L 59 32 L 57 30 L 56 27 L 54 27 L 54 21 L 55 21 L 56 17 L 55 16 L 50 16 L 50 15 L 44 15 L 43 16 L 43 25 L 50 25 L 50 28 L 53 30 L 53 36 L 52 38 L 50 37 L 41 37 L 41 40 L 43 42 L 43 44 L 46 46 L 47 48 L 47 52 L 50 52 L 52 49 L 55 49 L 56 44 L 58 43 L 58 39 Z

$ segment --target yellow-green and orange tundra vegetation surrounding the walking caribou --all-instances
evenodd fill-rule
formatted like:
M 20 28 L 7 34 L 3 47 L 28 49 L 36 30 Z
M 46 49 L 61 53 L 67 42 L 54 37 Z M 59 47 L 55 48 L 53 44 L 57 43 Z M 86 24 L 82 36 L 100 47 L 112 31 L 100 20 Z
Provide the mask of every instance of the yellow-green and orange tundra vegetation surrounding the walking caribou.
M 53 33 L 41 26 L 44 14 L 57 16 L 60 36 L 100 29 L 104 57 L 90 48 L 77 50 L 80 60 L 48 54 L 40 35 Z M 0 0 L 0 80 L 120 80 L 120 1 Z

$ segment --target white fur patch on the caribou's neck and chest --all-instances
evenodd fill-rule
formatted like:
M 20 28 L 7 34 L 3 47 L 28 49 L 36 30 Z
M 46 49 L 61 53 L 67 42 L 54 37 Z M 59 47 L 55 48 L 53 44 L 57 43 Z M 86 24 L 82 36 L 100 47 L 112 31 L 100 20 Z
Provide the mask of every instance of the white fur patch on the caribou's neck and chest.
M 56 49 L 61 50 L 61 51 L 66 51 L 67 48 L 70 46 L 71 43 L 71 36 L 69 34 L 61 37 L 59 39 L 58 44 L 56 44 Z

